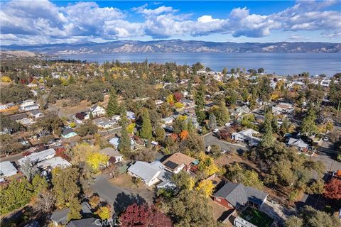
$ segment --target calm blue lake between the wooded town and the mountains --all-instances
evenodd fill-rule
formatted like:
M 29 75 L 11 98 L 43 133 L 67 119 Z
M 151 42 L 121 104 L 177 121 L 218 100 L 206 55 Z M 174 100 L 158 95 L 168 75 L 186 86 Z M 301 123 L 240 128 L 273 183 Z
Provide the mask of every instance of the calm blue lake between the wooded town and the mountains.
M 263 67 L 267 73 L 298 74 L 310 72 L 311 75 L 325 73 L 333 75 L 341 72 L 341 52 L 337 53 L 112 53 L 112 54 L 86 54 L 63 55 L 58 58 L 72 60 L 87 60 L 89 62 L 103 63 L 105 61 L 119 60 L 121 62 L 176 62 L 177 64 L 192 65 L 201 62 L 212 70 L 222 70 L 223 67 L 254 68 Z

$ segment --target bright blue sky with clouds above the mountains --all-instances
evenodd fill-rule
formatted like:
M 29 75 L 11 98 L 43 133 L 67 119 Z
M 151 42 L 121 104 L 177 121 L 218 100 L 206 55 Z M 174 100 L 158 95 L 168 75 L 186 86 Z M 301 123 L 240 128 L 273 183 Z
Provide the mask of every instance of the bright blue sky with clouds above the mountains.
M 341 1 L 0 1 L 1 45 L 114 40 L 341 43 Z

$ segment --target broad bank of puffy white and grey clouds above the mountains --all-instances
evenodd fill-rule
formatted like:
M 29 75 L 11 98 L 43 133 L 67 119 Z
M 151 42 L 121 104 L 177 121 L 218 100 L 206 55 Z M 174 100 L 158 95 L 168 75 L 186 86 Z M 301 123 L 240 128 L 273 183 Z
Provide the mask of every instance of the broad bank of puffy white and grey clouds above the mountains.
M 269 15 L 236 8 L 227 12 L 226 18 L 214 18 L 212 15 L 193 18 L 193 15 L 181 14 L 171 6 L 148 9 L 148 4 L 145 4 L 131 9 L 144 19 L 131 22 L 126 11 L 100 7 L 91 1 L 80 1 L 64 7 L 58 7 L 48 0 L 9 1 L 1 4 L 1 43 L 32 45 L 214 33 L 261 38 L 271 35 L 271 31 L 320 31 L 325 37 L 340 38 L 340 11 L 323 11 L 335 3 L 297 1 L 292 7 Z M 300 37 L 293 34 L 292 39 L 299 40 Z

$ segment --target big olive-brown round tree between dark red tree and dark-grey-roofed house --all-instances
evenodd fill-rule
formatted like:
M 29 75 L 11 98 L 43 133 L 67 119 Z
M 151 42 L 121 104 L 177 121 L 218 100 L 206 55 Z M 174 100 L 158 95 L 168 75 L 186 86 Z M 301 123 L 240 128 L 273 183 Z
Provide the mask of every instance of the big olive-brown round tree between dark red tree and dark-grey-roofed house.
M 212 207 L 199 192 L 182 190 L 170 201 L 170 214 L 176 226 L 217 226 Z

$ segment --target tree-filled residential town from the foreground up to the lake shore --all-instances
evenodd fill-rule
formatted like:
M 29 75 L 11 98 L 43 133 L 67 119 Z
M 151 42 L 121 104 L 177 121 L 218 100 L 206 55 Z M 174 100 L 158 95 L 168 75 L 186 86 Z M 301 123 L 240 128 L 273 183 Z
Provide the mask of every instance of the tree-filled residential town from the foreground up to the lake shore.
M 1 226 L 341 225 L 341 72 L 37 55 L 0 72 Z

